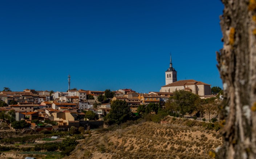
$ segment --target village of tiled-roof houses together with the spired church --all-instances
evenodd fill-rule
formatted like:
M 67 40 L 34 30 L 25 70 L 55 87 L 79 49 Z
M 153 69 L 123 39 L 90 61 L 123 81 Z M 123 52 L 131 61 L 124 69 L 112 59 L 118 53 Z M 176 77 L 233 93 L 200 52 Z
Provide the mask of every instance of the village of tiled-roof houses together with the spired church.
M 111 102 L 122 100 L 127 102 L 131 112 L 138 115 L 138 106 L 147 106 L 150 103 L 162 105 L 173 96 L 175 90 L 184 90 L 200 96 L 210 98 L 211 85 L 196 80 L 177 81 L 177 72 L 170 67 L 165 72 L 166 85 L 159 92 L 151 91 L 148 94 L 137 93 L 131 89 L 117 91 L 68 90 L 67 92 L 37 91 L 25 89 L 23 91 L 5 90 L 0 92 L 0 111 L 15 111 L 16 121 L 25 120 L 32 126 L 32 120 L 52 121 L 57 127 L 79 127 L 80 121 L 85 120 L 85 111 L 93 111 L 99 120 L 110 112 Z M 69 76 L 70 83 L 70 76 Z M 48 122 L 49 123 L 49 122 Z

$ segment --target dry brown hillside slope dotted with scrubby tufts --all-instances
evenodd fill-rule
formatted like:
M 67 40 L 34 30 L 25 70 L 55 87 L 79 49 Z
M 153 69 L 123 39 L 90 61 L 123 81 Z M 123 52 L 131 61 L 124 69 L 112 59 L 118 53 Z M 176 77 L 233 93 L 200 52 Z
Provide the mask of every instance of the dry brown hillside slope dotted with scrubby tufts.
M 184 126 L 187 120 L 166 120 L 164 125 L 145 122 L 93 135 L 84 139 L 81 149 L 68 158 L 207 159 L 211 158 L 209 151 L 222 144 L 218 132 L 206 130 L 200 123 L 190 127 Z

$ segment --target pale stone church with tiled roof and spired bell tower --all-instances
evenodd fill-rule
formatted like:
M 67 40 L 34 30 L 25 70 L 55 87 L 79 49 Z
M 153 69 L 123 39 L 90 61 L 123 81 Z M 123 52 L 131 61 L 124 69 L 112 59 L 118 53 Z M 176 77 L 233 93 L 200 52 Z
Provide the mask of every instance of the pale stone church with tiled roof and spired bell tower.
M 165 86 L 162 86 L 160 92 L 172 93 L 175 90 L 190 91 L 198 94 L 200 97 L 211 95 L 211 85 L 196 80 L 177 81 L 177 71 L 172 67 L 170 55 L 170 67 L 165 72 Z

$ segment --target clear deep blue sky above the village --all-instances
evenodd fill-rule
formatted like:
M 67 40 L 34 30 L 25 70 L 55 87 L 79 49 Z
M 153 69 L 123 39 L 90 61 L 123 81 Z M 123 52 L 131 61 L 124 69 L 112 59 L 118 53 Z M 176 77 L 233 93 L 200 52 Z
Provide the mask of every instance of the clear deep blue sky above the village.
M 222 87 L 218 0 L 1 0 L 0 90 L 159 91 L 178 80 Z

